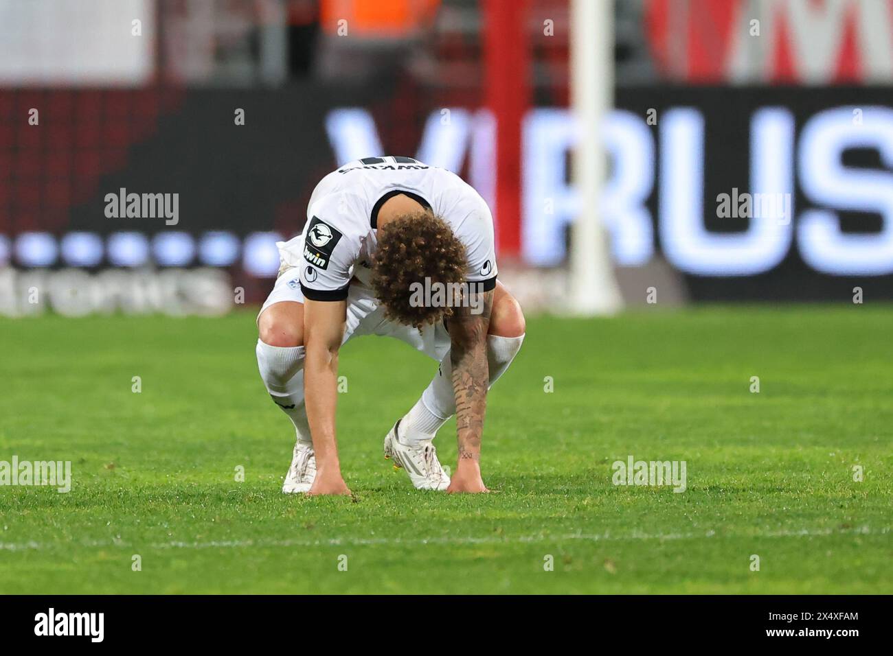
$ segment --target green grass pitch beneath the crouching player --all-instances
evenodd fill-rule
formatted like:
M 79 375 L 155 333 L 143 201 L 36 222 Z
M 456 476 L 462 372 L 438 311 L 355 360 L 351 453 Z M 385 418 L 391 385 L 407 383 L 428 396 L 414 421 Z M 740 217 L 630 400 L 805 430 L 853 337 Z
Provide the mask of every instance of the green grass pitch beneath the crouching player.
M 0 487 L 0 592 L 893 593 L 891 328 L 867 305 L 530 318 L 488 401 L 498 494 L 462 496 L 381 454 L 433 363 L 357 339 L 351 500 L 280 494 L 294 438 L 251 312 L 0 320 L 0 461 L 72 462 L 69 494 Z M 613 486 L 630 454 L 686 461 L 688 489 Z

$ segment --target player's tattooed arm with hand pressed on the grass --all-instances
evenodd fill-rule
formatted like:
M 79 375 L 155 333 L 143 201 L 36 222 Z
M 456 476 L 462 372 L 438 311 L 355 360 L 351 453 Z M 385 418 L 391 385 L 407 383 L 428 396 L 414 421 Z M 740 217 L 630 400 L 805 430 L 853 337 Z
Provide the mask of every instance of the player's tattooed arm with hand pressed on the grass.
M 487 492 L 480 477 L 480 437 L 487 410 L 487 332 L 493 291 L 480 292 L 449 319 L 459 463 L 447 492 Z

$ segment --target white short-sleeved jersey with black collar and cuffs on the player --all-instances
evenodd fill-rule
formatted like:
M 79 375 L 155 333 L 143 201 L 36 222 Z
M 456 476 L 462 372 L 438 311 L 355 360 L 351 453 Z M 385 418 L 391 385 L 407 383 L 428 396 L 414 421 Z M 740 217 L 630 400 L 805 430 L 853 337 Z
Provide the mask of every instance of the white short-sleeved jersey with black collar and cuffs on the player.
M 466 280 L 483 283 L 485 290 L 496 286 L 493 216 L 480 194 L 448 170 L 388 155 L 349 162 L 321 179 L 307 205 L 304 233 L 280 246 L 288 264 L 300 262 L 306 298 L 343 300 L 354 277 L 368 286 L 379 210 L 398 194 L 452 228 L 465 246 Z

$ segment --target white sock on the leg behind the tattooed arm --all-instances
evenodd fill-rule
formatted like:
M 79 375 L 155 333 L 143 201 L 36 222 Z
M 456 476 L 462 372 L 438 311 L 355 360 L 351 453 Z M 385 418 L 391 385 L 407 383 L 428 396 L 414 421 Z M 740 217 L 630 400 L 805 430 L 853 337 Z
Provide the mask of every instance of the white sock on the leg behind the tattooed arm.
M 492 387 L 508 369 L 514 356 L 521 350 L 523 341 L 523 335 L 487 337 L 487 361 L 490 371 L 488 388 Z M 455 414 L 453 366 L 449 356 L 447 352 L 440 362 L 437 375 L 421 393 L 421 398 L 415 402 L 412 409 L 400 420 L 400 437 L 404 442 L 433 439 L 438 429 Z

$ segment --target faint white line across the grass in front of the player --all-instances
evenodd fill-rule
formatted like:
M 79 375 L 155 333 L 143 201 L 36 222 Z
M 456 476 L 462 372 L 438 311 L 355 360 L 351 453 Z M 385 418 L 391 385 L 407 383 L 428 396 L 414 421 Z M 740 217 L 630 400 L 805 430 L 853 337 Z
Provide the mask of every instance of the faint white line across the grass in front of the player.
M 834 530 L 831 528 L 802 528 L 799 530 L 765 531 L 764 533 L 740 534 L 722 533 L 721 537 L 747 538 L 751 540 L 771 537 L 814 537 L 832 535 L 859 535 L 878 536 L 890 533 L 890 527 L 871 528 L 844 528 Z M 0 542 L 0 551 L 47 551 L 63 549 L 71 546 L 102 548 L 102 547 L 133 547 L 145 549 L 239 549 L 244 547 L 319 547 L 319 546 L 374 546 L 374 545 L 421 545 L 426 544 L 527 544 L 527 543 L 558 543 L 580 540 L 582 542 L 623 542 L 623 541 L 671 541 L 671 540 L 700 540 L 717 536 L 715 531 L 704 533 L 638 533 L 629 535 L 601 535 L 572 533 L 563 536 L 516 536 L 516 537 L 345 537 L 332 538 L 330 540 L 211 540 L 208 542 L 161 542 L 149 544 L 127 543 L 120 538 L 110 540 L 85 540 L 75 543 L 38 543 L 34 541 L 24 543 Z

